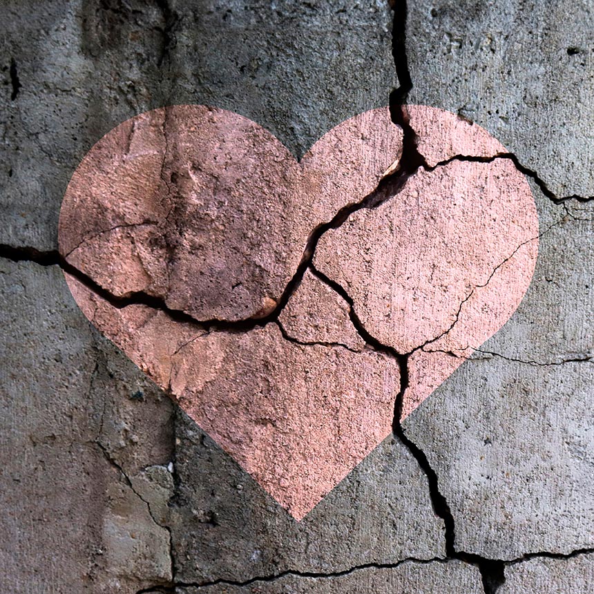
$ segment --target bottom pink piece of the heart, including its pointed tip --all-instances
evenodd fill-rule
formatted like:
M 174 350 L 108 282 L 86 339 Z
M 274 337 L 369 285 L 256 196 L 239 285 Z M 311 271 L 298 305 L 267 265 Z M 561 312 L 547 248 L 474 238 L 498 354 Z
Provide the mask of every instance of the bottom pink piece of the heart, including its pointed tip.
M 274 323 L 207 332 L 68 285 L 97 329 L 297 519 L 391 432 L 400 376 L 385 353 L 300 345 Z

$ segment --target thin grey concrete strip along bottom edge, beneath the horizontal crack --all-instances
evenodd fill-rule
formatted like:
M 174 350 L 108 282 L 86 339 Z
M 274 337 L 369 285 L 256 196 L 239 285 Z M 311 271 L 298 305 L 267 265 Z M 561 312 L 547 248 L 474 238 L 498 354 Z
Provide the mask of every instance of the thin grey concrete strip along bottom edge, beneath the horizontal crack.
M 205 588 L 179 588 L 179 591 L 180 594 L 433 594 L 438 591 L 444 594 L 479 594 L 483 588 L 477 568 L 453 561 L 448 564 L 410 562 L 396 568 L 360 569 L 347 575 L 328 577 L 287 575 L 271 582 L 258 580 L 249 586 L 219 584 Z

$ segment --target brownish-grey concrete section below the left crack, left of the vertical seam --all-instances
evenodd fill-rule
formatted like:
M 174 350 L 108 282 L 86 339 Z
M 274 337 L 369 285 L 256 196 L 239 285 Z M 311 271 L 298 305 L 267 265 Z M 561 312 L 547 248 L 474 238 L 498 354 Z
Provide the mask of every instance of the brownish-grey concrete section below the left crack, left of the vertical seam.
M 0 295 L 3 589 L 168 582 L 169 533 L 117 465 L 169 463 L 169 399 L 81 318 L 59 268 L 0 260 Z

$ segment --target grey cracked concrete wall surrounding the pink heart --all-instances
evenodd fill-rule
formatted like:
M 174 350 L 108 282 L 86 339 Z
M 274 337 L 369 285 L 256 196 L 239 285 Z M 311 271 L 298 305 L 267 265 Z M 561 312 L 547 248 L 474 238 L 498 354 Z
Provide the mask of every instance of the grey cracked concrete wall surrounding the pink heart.
M 594 8 L 394 4 L 2 3 L 3 591 L 591 591 Z M 403 423 L 417 448 L 388 437 L 297 523 L 86 320 L 59 208 L 86 151 L 159 106 L 235 111 L 303 155 L 387 105 L 392 26 L 408 102 L 477 122 L 526 173 L 537 268 Z

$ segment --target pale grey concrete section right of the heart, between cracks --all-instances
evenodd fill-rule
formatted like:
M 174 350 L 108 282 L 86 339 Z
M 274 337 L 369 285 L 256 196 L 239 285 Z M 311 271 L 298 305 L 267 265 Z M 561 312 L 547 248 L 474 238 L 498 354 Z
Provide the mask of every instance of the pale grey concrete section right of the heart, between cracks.
M 584 249 L 594 227 L 538 205 L 549 231 L 524 301 L 405 424 L 437 470 L 456 546 L 497 559 L 594 546 L 594 271 Z M 555 215 L 564 218 L 551 226 Z

